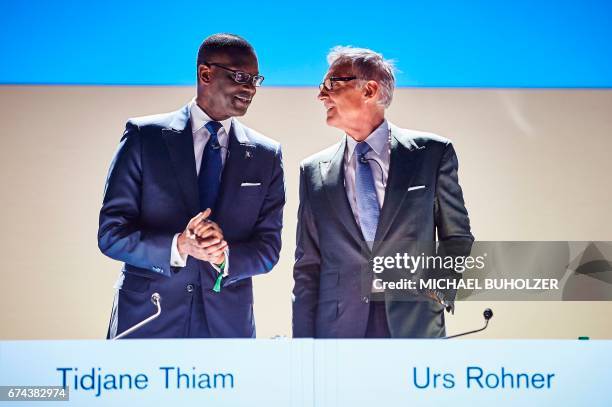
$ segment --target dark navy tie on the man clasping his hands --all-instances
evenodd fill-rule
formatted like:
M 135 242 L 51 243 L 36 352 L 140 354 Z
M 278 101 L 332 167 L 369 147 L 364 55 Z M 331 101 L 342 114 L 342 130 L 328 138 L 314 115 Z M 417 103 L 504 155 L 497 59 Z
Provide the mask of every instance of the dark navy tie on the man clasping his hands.
M 210 121 L 204 126 L 210 133 L 210 139 L 204 147 L 202 153 L 202 163 L 200 164 L 200 174 L 198 175 L 198 189 L 200 194 L 200 210 L 215 208 L 219 186 L 221 185 L 221 146 L 217 132 L 221 128 L 221 123 Z

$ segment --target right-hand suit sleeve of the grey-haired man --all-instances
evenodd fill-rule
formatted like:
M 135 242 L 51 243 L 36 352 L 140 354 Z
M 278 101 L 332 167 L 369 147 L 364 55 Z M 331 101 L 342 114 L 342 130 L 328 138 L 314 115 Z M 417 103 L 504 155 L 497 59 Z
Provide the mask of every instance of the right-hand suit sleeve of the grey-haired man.
M 444 148 L 436 187 L 434 202 L 435 224 L 440 246 L 439 256 L 468 256 L 474 236 L 470 230 L 470 219 L 459 186 L 459 162 L 453 145 L 448 142 Z M 453 270 L 442 270 L 441 278 L 460 279 Z M 454 309 L 455 290 L 436 293 L 449 310 Z

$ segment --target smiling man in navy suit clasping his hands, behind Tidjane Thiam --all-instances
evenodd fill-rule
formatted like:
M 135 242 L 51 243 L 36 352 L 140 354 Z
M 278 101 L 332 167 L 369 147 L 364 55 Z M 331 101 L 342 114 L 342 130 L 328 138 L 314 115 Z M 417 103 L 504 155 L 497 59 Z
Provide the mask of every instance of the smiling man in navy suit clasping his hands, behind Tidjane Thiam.
M 281 248 L 285 189 L 278 143 L 236 120 L 263 77 L 252 46 L 215 34 L 200 46 L 197 96 L 182 109 L 131 119 L 113 158 L 98 245 L 124 262 L 113 338 L 255 337 L 251 277 Z

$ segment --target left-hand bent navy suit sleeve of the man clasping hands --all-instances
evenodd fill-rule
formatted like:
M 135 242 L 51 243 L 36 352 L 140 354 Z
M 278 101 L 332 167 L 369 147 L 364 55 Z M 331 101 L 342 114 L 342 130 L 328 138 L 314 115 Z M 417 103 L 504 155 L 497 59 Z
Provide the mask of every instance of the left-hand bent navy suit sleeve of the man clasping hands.
M 138 127 L 128 122 L 106 179 L 98 247 L 112 259 L 170 277 L 174 233 L 147 230 L 140 225 L 141 147 Z

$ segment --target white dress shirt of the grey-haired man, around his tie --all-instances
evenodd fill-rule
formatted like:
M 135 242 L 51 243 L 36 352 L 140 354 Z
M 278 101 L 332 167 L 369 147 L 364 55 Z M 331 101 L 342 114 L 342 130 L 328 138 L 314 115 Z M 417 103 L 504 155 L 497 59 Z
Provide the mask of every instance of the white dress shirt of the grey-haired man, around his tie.
M 344 150 L 344 188 L 353 216 L 359 223 L 359 208 L 355 195 L 355 171 L 357 170 L 358 157 L 354 154 L 357 142 L 350 136 L 346 137 L 346 149 Z M 370 135 L 364 140 L 370 146 L 370 151 L 366 154 L 366 159 L 372 169 L 374 186 L 376 187 L 376 197 L 378 207 L 382 208 L 385 201 L 385 187 L 389 176 L 389 161 L 391 159 L 391 143 L 389 140 L 389 124 L 384 120 Z

